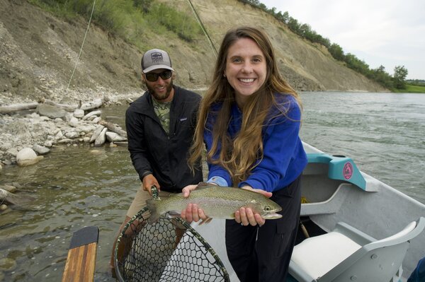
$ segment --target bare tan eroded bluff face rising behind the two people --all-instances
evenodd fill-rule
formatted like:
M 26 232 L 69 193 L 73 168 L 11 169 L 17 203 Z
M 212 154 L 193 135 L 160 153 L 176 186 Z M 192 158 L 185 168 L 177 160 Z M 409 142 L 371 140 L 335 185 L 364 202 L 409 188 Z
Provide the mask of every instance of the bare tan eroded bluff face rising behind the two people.
M 174 1 L 168 2 L 171 5 Z M 385 91 L 338 64 L 324 48 L 300 40 L 274 18 L 249 5 L 236 0 L 193 4 L 216 46 L 225 31 L 235 25 L 267 30 L 280 71 L 296 90 Z M 242 13 L 244 17 L 238 16 Z M 61 100 L 85 90 L 101 88 L 123 93 L 142 87 L 140 58 L 145 50 L 111 35 L 96 23 L 91 23 L 79 57 L 86 19 L 62 20 L 23 0 L 0 0 L 0 14 L 1 96 Z M 146 46 L 169 50 L 177 73 L 176 84 L 192 89 L 208 87 L 215 55 L 205 37 L 188 44 L 171 35 L 158 36 L 154 30 L 143 30 L 143 34 Z M 74 94 L 64 91 L 71 78 L 69 89 Z

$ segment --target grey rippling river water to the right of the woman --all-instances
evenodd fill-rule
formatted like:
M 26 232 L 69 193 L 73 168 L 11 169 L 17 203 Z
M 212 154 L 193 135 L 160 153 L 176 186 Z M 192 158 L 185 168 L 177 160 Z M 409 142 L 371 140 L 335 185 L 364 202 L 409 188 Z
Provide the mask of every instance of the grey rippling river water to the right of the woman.
M 303 141 L 425 203 L 425 95 L 302 93 Z

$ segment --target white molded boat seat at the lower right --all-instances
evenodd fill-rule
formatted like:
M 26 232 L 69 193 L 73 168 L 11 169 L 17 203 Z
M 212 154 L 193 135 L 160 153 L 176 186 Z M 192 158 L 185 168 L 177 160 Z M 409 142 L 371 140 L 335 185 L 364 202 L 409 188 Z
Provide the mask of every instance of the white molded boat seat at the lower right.
M 338 223 L 330 233 L 310 237 L 296 245 L 289 273 L 300 282 L 398 281 L 410 240 L 425 227 L 425 218 L 382 240 Z

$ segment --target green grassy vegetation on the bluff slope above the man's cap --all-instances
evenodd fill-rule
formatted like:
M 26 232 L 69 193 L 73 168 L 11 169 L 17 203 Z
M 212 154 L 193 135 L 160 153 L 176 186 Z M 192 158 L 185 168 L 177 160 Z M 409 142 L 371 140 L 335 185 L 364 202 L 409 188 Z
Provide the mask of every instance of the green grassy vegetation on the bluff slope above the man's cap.
M 61 18 L 72 20 L 77 15 L 87 20 L 93 8 L 93 0 L 29 0 L 30 3 Z M 143 8 L 143 3 L 149 4 Z M 93 22 L 113 35 L 122 37 L 137 47 L 146 47 L 143 38 L 156 35 L 179 37 L 194 42 L 202 36 L 202 30 L 191 14 L 178 11 L 173 6 L 155 0 L 98 0 Z

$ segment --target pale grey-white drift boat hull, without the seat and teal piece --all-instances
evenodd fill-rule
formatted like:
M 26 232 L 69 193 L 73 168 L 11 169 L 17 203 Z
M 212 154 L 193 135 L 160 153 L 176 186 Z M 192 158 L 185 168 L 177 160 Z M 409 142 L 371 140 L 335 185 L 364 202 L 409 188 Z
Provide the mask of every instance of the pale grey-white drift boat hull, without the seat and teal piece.
M 323 153 L 304 144 L 307 154 Z M 397 191 L 374 177 L 360 172 L 365 180 L 361 189 L 344 180 L 328 177 L 327 163 L 309 163 L 302 175 L 302 196 L 307 203 L 301 205 L 301 216 L 329 232 L 336 223 L 344 222 L 377 240 L 393 235 L 408 223 L 425 216 L 425 205 Z M 222 259 L 230 281 L 239 281 L 227 259 L 225 249 L 225 221 L 214 219 L 211 223 L 193 223 Z M 308 231 L 308 230 L 307 230 Z M 414 237 L 402 264 L 403 277 L 408 278 L 425 257 L 425 232 Z

